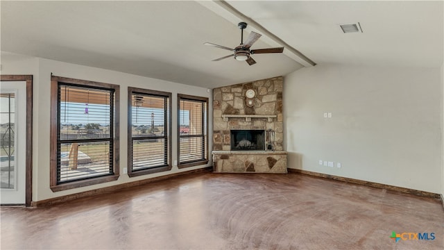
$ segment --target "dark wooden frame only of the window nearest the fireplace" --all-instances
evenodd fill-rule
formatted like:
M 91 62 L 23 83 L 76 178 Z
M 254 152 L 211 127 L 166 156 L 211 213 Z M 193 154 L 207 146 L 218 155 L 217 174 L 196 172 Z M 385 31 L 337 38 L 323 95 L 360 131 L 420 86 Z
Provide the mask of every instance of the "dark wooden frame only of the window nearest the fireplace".
M 203 160 L 194 160 L 194 161 L 189 161 L 189 162 L 184 162 L 181 163 L 180 162 L 180 138 L 191 138 L 191 137 L 196 137 L 196 135 L 180 135 L 180 101 L 182 100 L 189 100 L 189 101 L 198 101 L 201 103 L 205 103 L 206 104 L 206 110 L 205 110 L 205 116 L 202 117 L 203 121 L 202 121 L 202 129 L 203 129 L 203 134 L 201 137 L 203 137 L 203 143 L 205 143 L 203 149 L 205 149 L 205 151 L 203 152 L 203 154 L 205 154 L 205 158 L 203 158 Z M 197 165 L 207 165 L 209 160 L 208 160 L 208 98 L 207 97 L 196 97 L 196 96 L 192 96 L 192 95 L 188 95 L 188 94 L 178 94 L 178 129 L 177 129 L 177 137 L 178 137 L 178 168 L 182 169 L 185 167 L 193 167 L 193 166 L 197 166 Z M 204 119 L 204 117 L 206 119 Z M 206 131 L 205 131 L 206 129 Z

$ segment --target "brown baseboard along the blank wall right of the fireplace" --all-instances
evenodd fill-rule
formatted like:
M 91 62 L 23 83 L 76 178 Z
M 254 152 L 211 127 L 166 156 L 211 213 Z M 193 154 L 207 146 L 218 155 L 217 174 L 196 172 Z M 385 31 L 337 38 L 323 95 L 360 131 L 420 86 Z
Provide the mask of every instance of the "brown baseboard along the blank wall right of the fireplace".
M 372 187 L 372 188 L 382 188 L 382 189 L 386 189 L 386 190 L 391 190 L 391 191 L 397 191 L 397 192 L 402 192 L 405 194 L 415 194 L 421 197 L 430 197 L 430 198 L 434 198 L 434 199 L 440 199 L 441 198 L 441 202 L 443 202 L 443 197 L 440 194 L 435 194 L 432 192 L 425 192 L 425 191 L 420 191 L 420 190 L 413 190 L 410 188 L 400 188 L 394 185 L 386 185 L 386 184 L 381 184 L 381 183 L 374 183 L 371 181 L 362 181 L 362 180 L 358 180 L 355 178 L 346 178 L 346 177 L 341 177 L 341 176 L 333 176 L 330 174 L 322 174 L 322 173 L 316 173 L 316 172 L 311 172 L 311 171 L 307 171 L 307 170 L 302 170 L 302 169 L 291 169 L 289 168 L 289 173 L 298 173 L 298 174 L 307 174 L 309 176 L 317 176 L 317 177 L 321 177 L 321 178 L 329 178 L 335 181 L 343 181 L 346 183 L 353 183 L 353 184 L 359 184 L 359 185 L 365 185 L 368 187 Z M 444 203 L 443 203 L 444 206 Z

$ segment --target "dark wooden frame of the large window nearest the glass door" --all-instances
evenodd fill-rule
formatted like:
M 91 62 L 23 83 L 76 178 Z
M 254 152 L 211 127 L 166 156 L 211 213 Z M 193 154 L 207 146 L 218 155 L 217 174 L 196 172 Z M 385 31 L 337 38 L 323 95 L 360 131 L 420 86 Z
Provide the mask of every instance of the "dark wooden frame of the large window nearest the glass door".
M 59 122 L 59 97 L 58 87 L 59 84 L 76 85 L 82 88 L 100 88 L 106 90 L 112 90 L 114 92 L 114 103 L 112 103 L 112 127 L 113 131 L 110 131 L 110 138 L 112 138 L 112 174 L 106 176 L 98 176 L 87 178 L 79 181 L 71 181 L 68 183 L 58 183 L 57 180 L 57 148 L 58 148 L 58 133 L 60 133 Z M 116 181 L 119 178 L 119 107 L 120 107 L 120 86 L 110 83 L 99 83 L 94 81 L 85 81 L 75 78 L 67 78 L 62 76 L 51 76 L 51 126 L 50 126 L 50 188 L 53 192 L 62 190 L 69 190 L 74 188 L 81 188 L 89 185 L 96 185 L 99 183 L 106 183 L 110 181 Z

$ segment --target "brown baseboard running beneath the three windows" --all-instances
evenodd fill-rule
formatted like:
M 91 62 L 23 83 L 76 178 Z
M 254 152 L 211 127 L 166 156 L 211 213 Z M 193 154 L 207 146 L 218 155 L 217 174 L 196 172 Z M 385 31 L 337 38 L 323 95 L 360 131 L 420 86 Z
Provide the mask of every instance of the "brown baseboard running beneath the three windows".
M 121 190 L 123 188 L 133 188 L 139 185 L 144 185 L 147 183 L 153 183 L 156 181 L 162 181 L 165 180 L 167 178 L 175 178 L 178 176 L 183 176 L 186 174 L 196 174 L 196 173 L 200 173 L 200 172 L 211 172 L 213 169 L 213 167 L 204 167 L 204 168 L 200 168 L 200 169 L 194 169 L 194 170 L 189 170 L 189 171 L 185 171 L 185 172 L 178 172 L 178 173 L 174 173 L 174 174 L 167 174 L 164 176 L 158 176 L 158 177 L 154 177 L 154 178 L 147 178 L 144 180 L 140 180 L 140 181 L 133 181 L 130 183 L 122 183 L 119 185 L 113 185 L 110 187 L 105 187 L 105 188 L 98 188 L 95 190 L 88 190 L 85 192 L 79 192 L 76 194 L 68 194 L 68 195 L 64 195 L 61 197 L 56 197 L 56 198 L 51 198 L 51 199 L 44 199 L 42 201 L 31 201 L 31 206 L 33 207 L 38 207 L 38 206 L 51 206 L 57 203 L 62 203 L 62 202 L 66 202 L 66 201 L 72 201 L 74 199 L 79 199 L 79 198 L 83 198 L 83 197 L 91 197 L 94 195 L 99 195 L 99 194 L 105 194 L 105 193 L 109 193 L 109 192 L 114 192 L 117 190 Z

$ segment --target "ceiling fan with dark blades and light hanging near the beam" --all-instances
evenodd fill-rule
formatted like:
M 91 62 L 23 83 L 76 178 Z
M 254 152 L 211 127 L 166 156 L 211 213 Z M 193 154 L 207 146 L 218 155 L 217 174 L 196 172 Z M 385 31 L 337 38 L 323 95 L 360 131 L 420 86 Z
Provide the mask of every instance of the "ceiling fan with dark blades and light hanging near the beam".
M 230 49 L 228 47 L 221 46 L 218 44 L 213 44 L 211 42 L 204 43 L 205 45 L 208 46 L 213 46 L 220 49 L 226 49 L 233 52 L 228 56 L 223 56 L 221 58 L 214 59 L 213 61 L 218 61 L 234 56 L 234 59 L 236 60 L 246 60 L 248 65 L 254 65 L 256 61 L 251 57 L 251 55 L 255 53 L 282 53 L 282 51 L 284 51 L 284 47 L 268 48 L 268 49 L 250 49 L 253 43 L 255 43 L 261 37 L 261 34 L 251 31 L 250 35 L 248 36 L 244 44 L 244 28 L 246 28 L 247 24 L 245 22 L 240 22 L 239 24 L 237 24 L 237 26 L 241 29 L 241 44 L 239 44 L 238 47 Z

